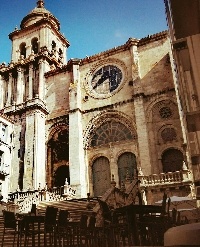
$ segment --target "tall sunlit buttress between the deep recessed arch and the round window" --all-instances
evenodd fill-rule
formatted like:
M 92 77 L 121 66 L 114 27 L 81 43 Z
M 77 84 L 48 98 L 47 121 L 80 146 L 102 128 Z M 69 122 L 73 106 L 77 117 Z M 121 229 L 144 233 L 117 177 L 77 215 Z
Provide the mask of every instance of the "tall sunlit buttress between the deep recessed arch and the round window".
M 81 113 L 80 60 L 71 60 L 73 82 L 70 89 L 69 113 L 69 168 L 70 183 L 76 189 L 77 197 L 87 197 L 88 169 L 84 159 L 83 129 Z

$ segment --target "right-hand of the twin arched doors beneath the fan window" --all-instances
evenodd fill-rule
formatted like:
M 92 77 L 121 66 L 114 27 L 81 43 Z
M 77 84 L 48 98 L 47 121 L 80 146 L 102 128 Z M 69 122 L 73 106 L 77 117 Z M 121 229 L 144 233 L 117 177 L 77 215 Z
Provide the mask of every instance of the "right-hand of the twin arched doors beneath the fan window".
M 134 169 L 137 169 L 136 156 L 133 153 L 126 152 L 119 156 L 118 162 L 119 184 L 125 182 L 126 174 L 128 173 L 130 179 L 133 179 Z

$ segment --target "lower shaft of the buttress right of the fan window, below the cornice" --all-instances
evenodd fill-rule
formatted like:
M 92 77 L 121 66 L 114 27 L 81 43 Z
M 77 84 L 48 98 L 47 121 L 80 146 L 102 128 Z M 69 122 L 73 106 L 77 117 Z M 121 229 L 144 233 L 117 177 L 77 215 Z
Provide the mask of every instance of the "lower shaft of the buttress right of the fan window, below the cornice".
M 149 149 L 149 140 L 147 133 L 147 125 L 144 112 L 143 97 L 139 96 L 134 99 L 135 107 L 135 118 L 138 134 L 138 153 L 139 160 L 142 171 L 144 175 L 151 174 L 151 160 L 150 160 L 150 149 Z

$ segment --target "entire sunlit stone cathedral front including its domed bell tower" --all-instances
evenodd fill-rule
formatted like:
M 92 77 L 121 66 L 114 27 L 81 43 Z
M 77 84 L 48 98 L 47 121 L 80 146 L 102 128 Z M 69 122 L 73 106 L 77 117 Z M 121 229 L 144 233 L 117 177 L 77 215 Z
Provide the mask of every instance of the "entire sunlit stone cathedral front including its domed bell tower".
M 66 179 L 77 197 L 101 196 L 112 178 L 120 188 L 135 173 L 189 169 L 166 31 L 67 61 L 69 41 L 39 0 L 9 38 L 12 60 L 0 65 L 4 198 Z

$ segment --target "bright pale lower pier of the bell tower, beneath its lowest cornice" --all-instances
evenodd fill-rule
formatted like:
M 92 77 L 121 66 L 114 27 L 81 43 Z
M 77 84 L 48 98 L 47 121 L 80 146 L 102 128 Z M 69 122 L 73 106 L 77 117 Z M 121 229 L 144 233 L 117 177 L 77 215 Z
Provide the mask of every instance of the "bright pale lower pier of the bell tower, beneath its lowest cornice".
M 35 110 L 26 114 L 24 189 L 45 187 L 45 114 Z

